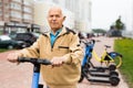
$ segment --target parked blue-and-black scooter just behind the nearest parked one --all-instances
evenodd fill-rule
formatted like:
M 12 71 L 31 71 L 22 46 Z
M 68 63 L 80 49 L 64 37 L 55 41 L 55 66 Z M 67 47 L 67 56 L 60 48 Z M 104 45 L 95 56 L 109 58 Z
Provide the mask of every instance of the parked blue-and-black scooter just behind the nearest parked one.
M 84 65 L 84 63 L 88 62 L 88 67 L 90 68 L 90 72 L 101 72 L 101 73 L 104 73 L 106 70 L 112 72 L 112 70 L 116 69 L 116 66 L 114 64 L 111 64 L 108 67 L 94 66 L 91 63 L 91 58 L 92 58 L 92 51 L 93 51 L 95 41 L 91 40 L 90 42 L 88 42 L 88 41 L 86 42 L 81 41 L 81 42 L 85 44 L 85 55 L 84 55 L 82 65 Z

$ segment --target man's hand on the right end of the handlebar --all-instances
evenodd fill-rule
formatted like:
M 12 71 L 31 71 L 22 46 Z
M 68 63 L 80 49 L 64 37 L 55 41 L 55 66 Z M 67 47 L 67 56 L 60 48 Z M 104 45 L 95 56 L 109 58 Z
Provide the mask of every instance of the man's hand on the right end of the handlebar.
M 53 57 L 51 59 L 52 66 L 61 66 L 63 63 L 65 63 L 66 58 L 65 57 Z

